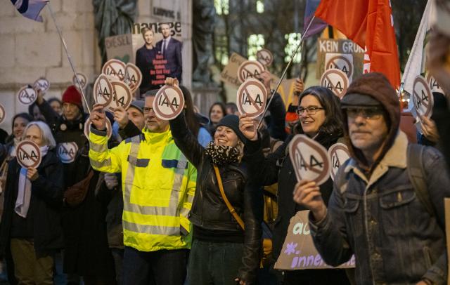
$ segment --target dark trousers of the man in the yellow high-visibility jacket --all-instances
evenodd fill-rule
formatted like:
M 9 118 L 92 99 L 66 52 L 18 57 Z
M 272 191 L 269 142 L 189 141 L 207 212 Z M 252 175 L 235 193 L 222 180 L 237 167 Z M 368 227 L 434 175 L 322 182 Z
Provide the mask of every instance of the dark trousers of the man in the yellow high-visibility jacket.
M 125 246 L 124 285 L 183 285 L 188 249 L 138 251 Z

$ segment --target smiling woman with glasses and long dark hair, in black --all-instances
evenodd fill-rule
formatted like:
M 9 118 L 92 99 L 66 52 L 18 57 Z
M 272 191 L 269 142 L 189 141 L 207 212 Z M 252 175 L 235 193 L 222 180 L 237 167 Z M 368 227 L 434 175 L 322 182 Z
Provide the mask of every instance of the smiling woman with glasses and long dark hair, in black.
M 300 119 L 294 127 L 294 133 L 304 134 L 316 140 L 328 149 L 338 142 L 343 135 L 342 117 L 339 98 L 327 88 L 312 86 L 299 96 L 296 110 Z M 264 158 L 261 138 L 252 119 L 245 115 L 240 117 L 240 131 L 248 139 L 245 145 L 245 158 L 248 159 L 250 179 L 259 181 L 262 185 L 272 185 L 278 182 L 278 217 L 274 223 L 273 256 L 275 263 L 280 256 L 283 242 L 288 234 L 290 218 L 297 211 L 307 210 L 293 200 L 293 191 L 297 178 L 293 164 L 290 161 L 288 145 L 293 135 L 278 147 L 273 154 Z M 328 204 L 333 181 L 328 179 L 320 186 L 323 200 Z M 289 284 L 349 284 L 344 270 L 293 270 L 279 274 L 279 282 Z

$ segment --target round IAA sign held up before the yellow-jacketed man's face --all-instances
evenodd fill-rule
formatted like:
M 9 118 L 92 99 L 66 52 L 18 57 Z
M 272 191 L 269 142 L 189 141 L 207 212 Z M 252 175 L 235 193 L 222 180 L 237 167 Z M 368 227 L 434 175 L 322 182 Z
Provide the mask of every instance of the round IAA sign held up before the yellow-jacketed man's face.
M 153 111 L 162 120 L 175 119 L 183 108 L 184 96 L 178 86 L 162 86 L 153 100 Z

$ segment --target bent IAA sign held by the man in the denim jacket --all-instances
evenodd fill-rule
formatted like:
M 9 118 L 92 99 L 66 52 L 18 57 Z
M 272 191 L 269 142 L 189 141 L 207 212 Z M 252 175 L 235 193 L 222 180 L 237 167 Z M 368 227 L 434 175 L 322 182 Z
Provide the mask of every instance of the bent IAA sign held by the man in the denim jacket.
M 321 185 L 330 177 L 327 150 L 307 135 L 295 135 L 289 144 L 289 156 L 297 181 L 309 180 Z

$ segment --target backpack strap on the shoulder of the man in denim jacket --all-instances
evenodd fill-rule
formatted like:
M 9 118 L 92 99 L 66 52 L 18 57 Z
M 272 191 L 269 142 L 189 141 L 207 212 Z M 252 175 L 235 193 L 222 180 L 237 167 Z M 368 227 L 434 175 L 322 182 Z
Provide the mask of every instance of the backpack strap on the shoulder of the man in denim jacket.
M 430 216 L 435 216 L 435 210 L 430 200 L 426 182 L 425 168 L 423 168 L 423 152 L 425 146 L 409 144 L 407 150 L 406 169 L 408 177 L 413 185 L 414 192 L 420 203 L 425 207 Z

